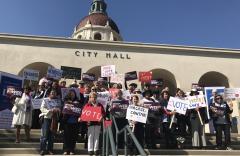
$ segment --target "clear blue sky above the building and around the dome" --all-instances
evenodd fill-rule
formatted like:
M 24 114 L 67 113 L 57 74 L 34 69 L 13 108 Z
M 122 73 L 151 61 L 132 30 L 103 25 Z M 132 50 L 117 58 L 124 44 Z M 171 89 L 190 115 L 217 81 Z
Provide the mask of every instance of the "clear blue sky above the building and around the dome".
M 240 49 L 240 0 L 105 0 L 125 41 Z M 0 33 L 70 37 L 92 0 L 1 0 Z

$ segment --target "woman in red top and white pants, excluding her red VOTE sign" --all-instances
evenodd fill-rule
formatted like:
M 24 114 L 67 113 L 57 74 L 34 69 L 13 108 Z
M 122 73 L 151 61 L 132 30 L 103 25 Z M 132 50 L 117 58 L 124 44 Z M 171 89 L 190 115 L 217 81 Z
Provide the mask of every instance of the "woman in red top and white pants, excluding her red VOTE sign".
M 98 155 L 99 154 L 99 135 L 101 131 L 101 121 L 105 118 L 105 110 L 102 104 L 97 103 L 97 93 L 91 92 L 89 95 L 89 101 L 84 106 L 86 107 L 100 107 L 101 108 L 101 116 L 102 118 L 99 121 L 88 121 L 88 153 L 89 155 Z M 84 110 L 83 109 L 83 110 Z M 78 121 L 81 121 L 79 118 Z

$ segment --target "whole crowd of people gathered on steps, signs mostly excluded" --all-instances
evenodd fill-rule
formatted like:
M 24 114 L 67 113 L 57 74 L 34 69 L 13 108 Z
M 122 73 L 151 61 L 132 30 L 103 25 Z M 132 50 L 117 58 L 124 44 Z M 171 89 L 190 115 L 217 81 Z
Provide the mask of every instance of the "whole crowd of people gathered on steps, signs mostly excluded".
M 61 88 L 73 88 L 62 98 Z M 79 89 L 78 96 L 74 88 Z M 115 97 L 111 98 L 104 108 L 97 101 L 99 92 L 108 91 L 109 88 L 118 89 Z M 132 95 L 129 101 L 123 97 L 123 88 Z M 199 90 L 193 89 L 188 96 L 198 95 Z M 192 138 L 192 148 L 205 149 L 207 141 L 205 136 L 204 124 L 213 120 L 216 131 L 216 149 L 231 150 L 230 114 L 233 111 L 232 104 L 226 103 L 223 96 L 215 94 L 209 107 L 211 119 L 207 116 L 206 107 L 187 110 L 185 115 L 169 111 L 167 109 L 170 96 L 184 99 L 184 91 L 177 88 L 174 95 L 170 94 L 169 88 L 161 88 L 160 84 L 144 84 L 140 90 L 137 84 L 131 83 L 123 87 L 121 84 L 110 84 L 105 81 L 83 82 L 74 81 L 69 87 L 66 81 L 54 81 L 41 79 L 39 86 L 33 90 L 31 86 L 24 88 L 22 97 L 16 98 L 14 102 L 14 117 L 12 124 L 16 128 L 16 143 L 20 143 L 20 129 L 24 127 L 26 138 L 29 141 L 30 129 L 41 128 L 40 154 L 54 154 L 53 144 L 54 135 L 57 131 L 63 132 L 63 154 L 74 155 L 78 136 L 87 136 L 87 148 L 90 155 L 99 155 L 99 136 L 102 131 L 101 122 L 83 122 L 79 113 L 67 113 L 70 106 L 82 110 L 84 107 L 101 107 L 102 120 L 111 120 L 115 117 L 119 129 L 129 125 L 133 129 L 137 140 L 142 147 L 157 148 L 157 138 L 161 134 L 165 142 L 165 148 L 180 148 L 179 142 L 184 142 L 187 136 Z M 32 99 L 43 99 L 40 109 L 34 109 L 31 106 Z M 147 122 L 140 123 L 126 119 L 126 113 L 117 111 L 122 103 L 149 108 Z M 154 104 L 154 107 L 151 105 Z M 115 110 L 115 111 L 113 111 Z M 201 119 L 199 118 L 199 115 Z M 173 118 L 174 116 L 174 118 Z M 171 120 L 173 119 L 172 123 Z M 201 123 L 201 120 L 203 124 Z M 171 123 L 171 126 L 170 126 Z M 60 126 L 59 126 L 60 125 Z M 114 131 L 114 128 L 113 128 Z M 222 132 L 224 132 L 225 141 L 222 141 Z M 144 134 L 144 135 L 143 135 Z M 124 147 L 124 136 L 120 135 L 118 147 Z M 134 145 L 131 145 L 134 149 Z

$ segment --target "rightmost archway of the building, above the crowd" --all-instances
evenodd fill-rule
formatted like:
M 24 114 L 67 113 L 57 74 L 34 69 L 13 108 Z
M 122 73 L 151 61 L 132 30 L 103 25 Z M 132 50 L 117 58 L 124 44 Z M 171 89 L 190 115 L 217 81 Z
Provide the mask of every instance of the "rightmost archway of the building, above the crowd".
M 210 71 L 201 76 L 198 84 L 202 87 L 225 86 L 229 87 L 228 78 L 219 72 Z

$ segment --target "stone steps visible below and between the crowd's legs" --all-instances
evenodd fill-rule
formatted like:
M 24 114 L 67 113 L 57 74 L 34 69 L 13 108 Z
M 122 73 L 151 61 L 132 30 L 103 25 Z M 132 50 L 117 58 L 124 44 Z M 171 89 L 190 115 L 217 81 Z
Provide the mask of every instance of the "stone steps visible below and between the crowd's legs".
M 39 155 L 39 138 L 41 132 L 39 129 L 31 130 L 31 140 L 26 142 L 24 130 L 21 130 L 21 142 L 15 143 L 15 130 L 0 129 L 0 156 L 3 155 Z M 215 136 L 207 134 L 207 149 L 193 150 L 191 149 L 191 138 L 187 137 L 183 149 L 163 149 L 163 139 L 158 139 L 157 149 L 145 149 L 149 155 L 240 155 L 240 135 L 231 134 L 232 146 L 234 150 L 213 150 L 215 145 Z M 55 138 L 54 153 L 62 154 L 62 136 L 59 134 Z M 124 154 L 124 150 L 118 151 L 119 154 Z M 84 140 L 79 137 L 77 147 L 77 155 L 87 155 L 87 149 L 84 148 Z

